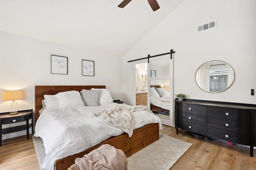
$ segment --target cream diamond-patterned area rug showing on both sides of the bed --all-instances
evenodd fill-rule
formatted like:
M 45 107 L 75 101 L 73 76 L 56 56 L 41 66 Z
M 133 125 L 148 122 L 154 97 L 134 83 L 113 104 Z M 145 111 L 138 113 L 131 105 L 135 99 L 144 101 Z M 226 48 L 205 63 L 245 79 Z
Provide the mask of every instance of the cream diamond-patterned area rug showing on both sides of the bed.
M 45 149 L 41 138 L 33 136 L 33 141 L 42 167 Z M 159 140 L 128 157 L 128 170 L 169 170 L 191 147 L 191 143 L 159 134 Z

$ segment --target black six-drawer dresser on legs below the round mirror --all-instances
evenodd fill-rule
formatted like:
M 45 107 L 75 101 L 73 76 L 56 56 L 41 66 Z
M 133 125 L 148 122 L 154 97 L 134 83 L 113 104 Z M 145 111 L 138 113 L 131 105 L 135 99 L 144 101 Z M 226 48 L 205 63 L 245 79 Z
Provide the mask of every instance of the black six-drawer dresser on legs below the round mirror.
M 250 146 L 256 146 L 256 105 L 187 99 L 174 100 L 174 123 L 189 132 Z

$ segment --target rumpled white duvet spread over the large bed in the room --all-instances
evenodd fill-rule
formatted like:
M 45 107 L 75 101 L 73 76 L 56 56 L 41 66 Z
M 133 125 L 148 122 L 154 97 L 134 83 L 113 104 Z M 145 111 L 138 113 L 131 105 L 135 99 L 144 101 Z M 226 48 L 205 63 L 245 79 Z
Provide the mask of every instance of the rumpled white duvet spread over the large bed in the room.
M 44 110 L 36 122 L 34 134 L 44 141 L 46 157 L 42 168 L 53 170 L 55 160 L 82 152 L 112 136 L 124 133 L 122 129 L 89 116 L 90 113 L 111 109 L 115 105 L 117 104 Z M 161 120 L 154 114 L 148 111 L 136 111 L 134 115 L 136 123 L 134 129 L 150 123 L 159 123 L 159 128 L 162 129 Z

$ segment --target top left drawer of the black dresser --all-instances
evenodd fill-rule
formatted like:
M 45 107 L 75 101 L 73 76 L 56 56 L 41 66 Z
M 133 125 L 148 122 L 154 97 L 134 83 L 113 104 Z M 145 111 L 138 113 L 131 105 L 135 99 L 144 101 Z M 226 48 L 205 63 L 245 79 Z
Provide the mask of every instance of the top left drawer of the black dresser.
M 194 114 L 198 114 L 198 115 L 207 115 L 207 107 L 206 106 L 179 103 L 178 110 L 187 112 L 187 113 L 194 113 Z

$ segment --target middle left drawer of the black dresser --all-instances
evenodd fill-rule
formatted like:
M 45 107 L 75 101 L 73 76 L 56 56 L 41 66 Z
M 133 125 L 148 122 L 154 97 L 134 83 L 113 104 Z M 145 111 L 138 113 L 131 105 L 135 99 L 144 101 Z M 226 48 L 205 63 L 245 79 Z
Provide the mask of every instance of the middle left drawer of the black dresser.
M 178 119 L 188 121 L 191 123 L 207 125 L 207 117 L 205 115 L 197 115 L 194 113 L 186 113 L 186 112 L 179 111 Z

